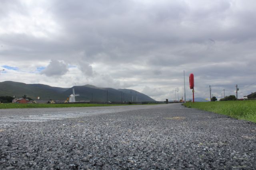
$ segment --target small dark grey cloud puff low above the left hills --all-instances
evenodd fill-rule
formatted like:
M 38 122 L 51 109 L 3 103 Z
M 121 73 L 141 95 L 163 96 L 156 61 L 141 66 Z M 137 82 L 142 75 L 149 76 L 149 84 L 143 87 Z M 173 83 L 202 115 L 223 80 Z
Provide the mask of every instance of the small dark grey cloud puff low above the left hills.
M 62 76 L 68 72 L 68 65 L 63 61 L 51 60 L 49 65 L 40 72 L 46 76 Z

